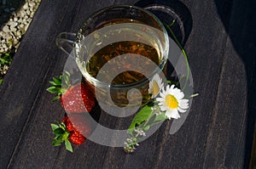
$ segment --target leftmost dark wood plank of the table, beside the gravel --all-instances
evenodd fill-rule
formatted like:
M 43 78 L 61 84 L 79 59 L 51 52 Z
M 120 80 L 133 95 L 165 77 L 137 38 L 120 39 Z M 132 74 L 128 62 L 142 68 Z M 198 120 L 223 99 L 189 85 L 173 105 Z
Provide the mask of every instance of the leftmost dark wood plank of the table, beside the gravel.
M 56 53 L 50 50 L 55 48 L 55 42 L 49 37 L 55 37 L 57 31 L 61 30 L 59 21 L 63 18 L 54 16 L 64 16 L 67 12 L 57 8 L 68 7 L 63 3 L 59 5 L 45 3 L 51 8 L 44 8 L 44 3 L 40 6 L 38 17 L 32 22 L 32 26 L 37 29 L 28 29 L 28 34 L 23 38 L 9 73 L 1 85 L 0 164 L 3 167 L 8 165 L 13 151 L 17 148 L 16 144 L 20 142 L 20 135 L 26 132 L 26 121 L 29 121 L 29 117 L 33 115 L 34 100 L 40 96 L 42 82 L 49 68 L 57 61 Z M 43 12 L 46 14 L 42 14 Z M 55 30 L 56 27 L 59 27 L 59 30 Z

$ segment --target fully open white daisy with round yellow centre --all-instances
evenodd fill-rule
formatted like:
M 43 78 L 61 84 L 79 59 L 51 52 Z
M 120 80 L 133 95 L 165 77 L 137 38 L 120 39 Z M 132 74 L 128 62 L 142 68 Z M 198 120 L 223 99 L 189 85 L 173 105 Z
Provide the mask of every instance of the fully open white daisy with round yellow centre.
M 171 119 L 178 119 L 180 115 L 178 112 L 184 113 L 189 108 L 189 100 L 183 99 L 184 93 L 175 88 L 174 85 L 171 87 L 168 85 L 166 90 L 163 89 L 160 92 L 160 98 L 157 98 L 160 110 L 166 111 L 166 116 Z

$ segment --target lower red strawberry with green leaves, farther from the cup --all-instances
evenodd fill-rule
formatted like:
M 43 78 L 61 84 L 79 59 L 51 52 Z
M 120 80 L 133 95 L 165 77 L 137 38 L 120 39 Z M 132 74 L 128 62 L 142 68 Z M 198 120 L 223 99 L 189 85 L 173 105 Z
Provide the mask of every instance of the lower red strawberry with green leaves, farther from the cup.
M 65 115 L 61 124 L 51 124 L 53 132 L 56 134 L 53 145 L 59 146 L 65 142 L 66 149 L 73 152 L 73 144 L 83 144 L 90 134 L 90 121 L 87 116 L 81 114 Z

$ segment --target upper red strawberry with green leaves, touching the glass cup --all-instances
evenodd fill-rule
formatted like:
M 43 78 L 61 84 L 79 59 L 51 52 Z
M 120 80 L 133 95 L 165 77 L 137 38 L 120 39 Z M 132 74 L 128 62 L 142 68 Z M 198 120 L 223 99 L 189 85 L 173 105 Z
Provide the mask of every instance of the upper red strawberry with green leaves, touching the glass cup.
M 64 71 L 63 77 L 53 78 L 52 87 L 47 88 L 49 93 L 57 93 L 53 99 L 61 99 L 61 104 L 67 112 L 70 113 L 84 113 L 90 112 L 95 105 L 93 93 L 90 92 L 83 82 L 74 86 L 69 82 L 70 74 Z M 63 78 L 63 81 L 62 81 Z M 63 84 L 61 82 L 64 82 Z

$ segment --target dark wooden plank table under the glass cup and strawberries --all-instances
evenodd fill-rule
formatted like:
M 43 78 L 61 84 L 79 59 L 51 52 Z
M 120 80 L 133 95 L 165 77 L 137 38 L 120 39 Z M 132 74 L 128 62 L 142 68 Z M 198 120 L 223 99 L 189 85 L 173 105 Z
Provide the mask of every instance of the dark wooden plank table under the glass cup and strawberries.
M 200 96 L 177 133 L 170 135 L 166 122 L 131 155 L 90 140 L 73 154 L 51 145 L 49 124 L 64 110 L 46 88 L 67 59 L 55 37 L 121 3 L 137 0 L 42 1 L 0 86 L 1 168 L 248 168 L 256 110 L 254 0 L 182 1 L 193 20 L 184 48 Z

